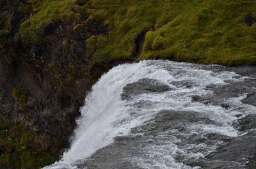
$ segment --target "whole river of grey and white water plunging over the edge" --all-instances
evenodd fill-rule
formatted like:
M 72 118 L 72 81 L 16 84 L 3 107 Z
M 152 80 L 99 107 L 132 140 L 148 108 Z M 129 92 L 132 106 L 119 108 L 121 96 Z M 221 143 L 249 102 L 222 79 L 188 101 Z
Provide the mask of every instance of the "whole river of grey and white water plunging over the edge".
M 71 148 L 45 168 L 255 168 L 255 70 L 117 66 L 86 97 Z

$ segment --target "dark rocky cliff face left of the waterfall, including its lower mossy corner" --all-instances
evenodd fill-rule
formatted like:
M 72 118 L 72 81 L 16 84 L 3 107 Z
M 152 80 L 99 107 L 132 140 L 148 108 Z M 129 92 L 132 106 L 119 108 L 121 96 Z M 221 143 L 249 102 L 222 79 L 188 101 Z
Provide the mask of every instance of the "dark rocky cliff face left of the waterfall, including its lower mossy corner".
M 35 15 L 22 12 L 29 5 L 0 1 L 1 29 L 7 32 L 0 38 L 0 168 L 40 168 L 58 159 L 86 92 L 116 64 L 90 67 L 86 39 L 108 29 L 86 16 L 81 31 L 54 20 L 36 42 L 23 41 L 20 24 Z

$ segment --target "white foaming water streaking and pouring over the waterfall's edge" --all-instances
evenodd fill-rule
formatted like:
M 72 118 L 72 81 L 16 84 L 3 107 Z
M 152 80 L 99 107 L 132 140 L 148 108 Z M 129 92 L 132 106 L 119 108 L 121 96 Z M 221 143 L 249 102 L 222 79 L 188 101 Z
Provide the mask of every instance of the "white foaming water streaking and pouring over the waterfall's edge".
M 220 71 L 214 73 L 202 70 L 200 65 L 171 61 L 143 61 L 136 64 L 123 64 L 110 70 L 103 75 L 99 82 L 92 87 L 92 92 L 86 97 L 84 107 L 81 108 L 81 118 L 77 120 L 78 128 L 72 141 L 71 148 L 63 154 L 61 161 L 48 168 L 76 168 L 75 163 L 79 159 L 90 157 L 93 152 L 113 142 L 115 136 L 129 135 L 129 131 L 143 124 L 143 122 L 154 118 L 161 110 L 184 110 L 195 111 L 204 114 L 212 121 L 218 121 L 219 126 L 212 124 L 195 124 L 191 130 L 197 133 L 220 133 L 227 136 L 237 136 L 238 131 L 232 127 L 235 115 L 242 114 L 240 110 L 225 110 L 225 108 L 214 105 L 204 105 L 191 101 L 191 96 L 209 95 L 211 90 L 205 89 L 208 85 L 227 84 L 225 80 L 239 81 L 234 72 Z M 141 78 L 154 78 L 159 82 L 169 85 L 173 90 L 164 93 L 150 93 L 134 96 L 130 101 L 123 101 L 121 94 L 125 85 L 137 82 Z M 188 81 L 193 87 L 175 87 L 171 82 Z M 241 96 L 243 98 L 243 96 Z M 239 102 L 242 98 L 233 98 L 230 103 Z M 147 107 L 134 107 L 135 103 L 146 101 Z M 246 107 L 248 108 L 248 107 Z M 250 107 L 248 112 L 255 111 Z M 191 168 L 177 163 L 173 158 L 176 152 L 186 154 L 186 149 L 179 149 L 175 142 L 170 140 L 162 147 L 148 147 L 148 159 L 156 160 L 156 163 L 148 164 L 143 158 L 133 160 L 139 166 L 152 168 Z M 194 145 L 197 146 L 197 145 Z M 204 146 L 203 146 L 204 147 Z M 207 147 L 204 147 L 207 149 Z M 213 151 L 208 150 L 208 151 Z M 173 152 L 170 154 L 170 152 Z M 146 153 L 146 155 L 147 155 Z M 153 154 L 153 155 L 152 155 Z M 161 154 L 161 160 L 157 157 Z M 204 156 L 202 153 L 187 154 L 188 157 L 198 158 Z M 164 156 L 164 158 L 163 158 Z

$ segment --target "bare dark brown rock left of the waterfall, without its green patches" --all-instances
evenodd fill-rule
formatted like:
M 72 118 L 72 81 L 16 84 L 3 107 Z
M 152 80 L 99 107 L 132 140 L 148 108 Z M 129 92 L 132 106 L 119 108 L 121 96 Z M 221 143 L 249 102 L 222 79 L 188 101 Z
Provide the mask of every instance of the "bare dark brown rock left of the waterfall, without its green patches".
M 79 4 L 84 3 L 81 0 Z M 79 108 L 93 82 L 121 61 L 90 68 L 92 56 L 86 52 L 86 39 L 108 34 L 108 29 L 102 21 L 88 16 L 81 17 L 76 30 L 74 23 L 54 21 L 39 34 L 38 43 L 25 43 L 20 38 L 20 24 L 35 14 L 21 12 L 28 5 L 24 0 L 0 1 L 2 14 L 12 14 L 10 26 L 0 23 L 1 30 L 10 31 L 0 38 L 0 114 L 6 112 L 10 121 L 22 123 L 36 134 L 37 154 L 49 152 L 60 158 L 69 146 Z M 13 100 L 15 87 L 29 91 L 24 109 Z

